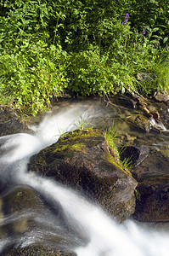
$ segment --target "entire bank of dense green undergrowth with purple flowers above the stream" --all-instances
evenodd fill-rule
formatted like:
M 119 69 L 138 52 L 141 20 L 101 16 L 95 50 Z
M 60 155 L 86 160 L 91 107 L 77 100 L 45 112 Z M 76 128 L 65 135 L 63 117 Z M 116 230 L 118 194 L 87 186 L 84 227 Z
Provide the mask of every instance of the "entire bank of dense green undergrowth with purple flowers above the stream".
M 0 103 L 169 90 L 168 0 L 1 0 Z

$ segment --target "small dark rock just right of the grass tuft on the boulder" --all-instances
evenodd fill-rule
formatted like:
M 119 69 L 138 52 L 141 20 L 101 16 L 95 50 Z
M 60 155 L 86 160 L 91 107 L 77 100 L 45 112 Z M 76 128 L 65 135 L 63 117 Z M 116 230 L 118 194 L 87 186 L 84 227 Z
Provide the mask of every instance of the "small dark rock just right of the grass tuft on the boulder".
M 127 146 L 120 148 L 121 161 L 129 160 L 132 166 L 138 166 L 149 154 L 149 148 L 147 146 Z

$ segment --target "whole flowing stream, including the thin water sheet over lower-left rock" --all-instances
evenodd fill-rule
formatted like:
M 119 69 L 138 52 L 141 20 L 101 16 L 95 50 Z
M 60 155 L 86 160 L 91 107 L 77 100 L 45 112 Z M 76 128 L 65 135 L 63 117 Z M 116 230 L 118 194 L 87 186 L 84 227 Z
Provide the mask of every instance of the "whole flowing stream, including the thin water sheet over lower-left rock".
M 0 253 L 9 245 L 25 247 L 33 244 L 58 247 L 76 252 L 78 256 L 168 255 L 167 225 L 157 229 L 154 225 L 141 225 L 132 219 L 117 224 L 103 209 L 73 189 L 27 172 L 31 155 L 55 143 L 61 133 L 85 125 L 89 116 L 91 122 L 98 122 L 98 125 L 100 116 L 110 120 L 105 108 L 92 106 L 77 104 L 71 108 L 56 108 L 40 124 L 31 125 L 33 135 L 21 133 L 0 137 Z M 114 109 L 112 115 L 117 118 Z M 5 214 L 3 205 L 8 195 L 20 191 L 20 188 L 36 191 L 40 207 Z

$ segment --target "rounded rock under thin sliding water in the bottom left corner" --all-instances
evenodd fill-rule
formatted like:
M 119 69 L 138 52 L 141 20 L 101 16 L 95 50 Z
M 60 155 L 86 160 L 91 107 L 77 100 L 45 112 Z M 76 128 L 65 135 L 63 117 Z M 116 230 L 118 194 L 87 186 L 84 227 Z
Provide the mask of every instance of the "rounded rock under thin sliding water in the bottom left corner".
M 2 245 L 7 241 L 3 251 L 1 248 L 1 255 L 73 256 L 76 253 L 71 253 L 72 248 L 77 246 L 77 241 L 79 244 L 87 242 L 80 229 L 70 227 L 59 202 L 53 204 L 29 187 L 17 187 L 4 195 L 0 210 Z M 55 225 L 53 231 L 51 217 Z

